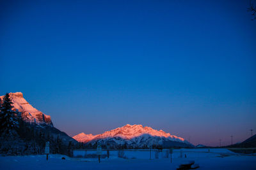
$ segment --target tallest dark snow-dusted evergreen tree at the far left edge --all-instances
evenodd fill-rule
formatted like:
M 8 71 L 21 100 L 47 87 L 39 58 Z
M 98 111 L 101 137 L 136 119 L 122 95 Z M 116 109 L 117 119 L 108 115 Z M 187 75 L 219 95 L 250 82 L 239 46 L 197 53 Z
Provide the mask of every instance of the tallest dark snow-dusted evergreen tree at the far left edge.
M 7 93 L 3 98 L 0 114 L 0 134 L 4 137 L 17 136 L 17 129 L 19 128 L 19 122 L 17 119 L 19 111 L 13 111 L 12 104 L 12 99 Z

